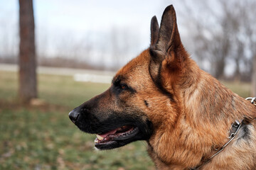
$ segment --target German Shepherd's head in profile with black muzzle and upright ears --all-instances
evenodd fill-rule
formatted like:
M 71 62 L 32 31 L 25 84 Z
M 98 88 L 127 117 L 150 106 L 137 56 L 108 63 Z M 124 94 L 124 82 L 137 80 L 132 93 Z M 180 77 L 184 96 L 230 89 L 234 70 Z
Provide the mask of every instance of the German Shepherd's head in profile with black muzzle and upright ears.
M 70 119 L 83 132 L 97 134 L 98 149 L 149 140 L 161 128 L 175 126 L 180 113 L 176 87 L 184 86 L 189 64 L 174 7 L 168 6 L 160 28 L 156 17 L 151 19 L 150 47 L 117 72 L 110 89 L 71 111 Z

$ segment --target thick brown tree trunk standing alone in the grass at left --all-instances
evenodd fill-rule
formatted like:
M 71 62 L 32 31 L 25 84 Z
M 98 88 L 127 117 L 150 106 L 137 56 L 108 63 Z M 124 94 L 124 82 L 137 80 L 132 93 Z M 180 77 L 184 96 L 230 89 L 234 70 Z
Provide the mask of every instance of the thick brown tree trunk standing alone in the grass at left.
M 19 0 L 19 86 L 18 97 L 28 103 L 37 97 L 35 23 L 33 0 Z

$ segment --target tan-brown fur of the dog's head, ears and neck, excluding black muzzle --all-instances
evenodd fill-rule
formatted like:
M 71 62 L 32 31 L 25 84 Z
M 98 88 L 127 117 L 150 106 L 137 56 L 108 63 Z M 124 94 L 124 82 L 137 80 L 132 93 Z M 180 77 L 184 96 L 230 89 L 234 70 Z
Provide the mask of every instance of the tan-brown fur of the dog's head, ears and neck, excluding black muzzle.
M 247 124 L 230 145 L 201 169 L 256 169 L 255 106 L 191 60 L 181 43 L 172 6 L 164 11 L 158 29 L 154 17 L 151 47 L 114 77 L 122 77 L 136 93 L 119 94 L 118 100 L 124 103 L 121 106 L 109 89 L 96 97 L 104 101 L 96 107 L 120 113 L 132 108 L 139 112 L 129 110 L 128 114 L 149 118 L 153 133 L 146 140 L 148 152 L 156 169 L 161 170 L 200 165 L 215 153 L 214 148 L 228 142 L 232 123 L 246 119 Z

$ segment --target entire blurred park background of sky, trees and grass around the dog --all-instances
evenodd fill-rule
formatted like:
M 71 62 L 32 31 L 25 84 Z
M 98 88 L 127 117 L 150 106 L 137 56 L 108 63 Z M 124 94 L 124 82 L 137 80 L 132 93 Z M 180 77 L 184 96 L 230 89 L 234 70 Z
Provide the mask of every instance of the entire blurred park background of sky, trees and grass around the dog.
M 68 112 L 149 47 L 170 4 L 201 69 L 256 96 L 254 0 L 0 0 L 0 169 L 154 169 L 145 142 L 95 151 Z

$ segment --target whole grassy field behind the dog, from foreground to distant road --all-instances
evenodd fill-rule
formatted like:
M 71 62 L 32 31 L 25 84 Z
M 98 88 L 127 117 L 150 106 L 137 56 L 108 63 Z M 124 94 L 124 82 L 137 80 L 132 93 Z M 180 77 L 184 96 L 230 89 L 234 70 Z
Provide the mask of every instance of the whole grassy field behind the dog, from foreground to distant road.
M 250 84 L 223 84 L 249 95 Z M 80 132 L 69 120 L 69 111 L 108 86 L 40 74 L 41 104 L 25 107 L 16 102 L 16 73 L 0 72 L 0 169 L 154 169 L 145 142 L 98 152 L 95 135 Z

